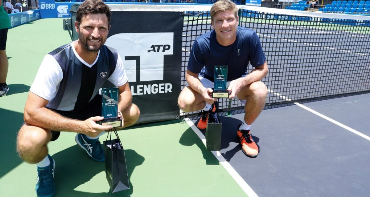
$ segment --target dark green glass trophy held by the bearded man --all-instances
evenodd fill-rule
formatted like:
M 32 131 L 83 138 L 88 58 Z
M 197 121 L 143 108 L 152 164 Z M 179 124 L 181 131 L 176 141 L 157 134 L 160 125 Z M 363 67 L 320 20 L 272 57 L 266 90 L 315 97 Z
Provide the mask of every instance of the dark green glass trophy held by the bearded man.
M 121 118 L 118 118 L 118 88 L 102 88 L 101 116 L 103 120 L 97 123 L 102 126 L 121 127 Z

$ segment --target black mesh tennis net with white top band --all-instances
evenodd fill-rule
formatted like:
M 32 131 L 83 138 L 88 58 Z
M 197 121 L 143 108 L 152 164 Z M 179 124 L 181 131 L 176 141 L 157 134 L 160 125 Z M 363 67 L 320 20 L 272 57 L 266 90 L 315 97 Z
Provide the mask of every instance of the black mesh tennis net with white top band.
M 257 33 L 269 65 L 262 79 L 266 107 L 370 91 L 370 16 L 239 8 L 239 26 Z M 184 21 L 183 76 L 192 43 L 211 30 L 209 12 L 189 13 Z M 243 109 L 235 100 L 220 105 Z

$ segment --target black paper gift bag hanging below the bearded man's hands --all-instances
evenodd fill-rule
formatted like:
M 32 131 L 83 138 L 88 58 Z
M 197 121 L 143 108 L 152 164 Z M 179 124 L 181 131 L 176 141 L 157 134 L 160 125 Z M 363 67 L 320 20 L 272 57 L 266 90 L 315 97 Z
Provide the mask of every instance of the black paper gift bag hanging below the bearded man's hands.
M 117 139 L 112 140 L 112 132 L 117 136 Z M 110 135 L 110 140 L 108 136 Z M 120 137 L 118 137 L 115 128 L 108 132 L 107 140 L 104 141 L 105 153 L 105 174 L 112 193 L 129 189 L 129 180 L 127 173 L 127 165 L 125 159 L 125 151 L 123 150 Z

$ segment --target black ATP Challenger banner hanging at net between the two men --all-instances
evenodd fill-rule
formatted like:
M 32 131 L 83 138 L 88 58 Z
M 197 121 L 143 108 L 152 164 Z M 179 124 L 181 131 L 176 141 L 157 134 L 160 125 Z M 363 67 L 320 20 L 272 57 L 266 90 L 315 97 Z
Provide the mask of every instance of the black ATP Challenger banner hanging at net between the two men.
M 105 44 L 124 62 L 138 123 L 178 118 L 182 26 L 181 12 L 112 11 Z

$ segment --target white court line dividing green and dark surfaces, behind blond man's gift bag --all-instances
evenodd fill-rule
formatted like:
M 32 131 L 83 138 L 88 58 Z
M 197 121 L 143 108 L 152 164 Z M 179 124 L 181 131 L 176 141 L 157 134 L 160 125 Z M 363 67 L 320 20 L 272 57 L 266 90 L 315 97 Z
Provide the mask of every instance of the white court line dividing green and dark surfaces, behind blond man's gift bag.
M 203 144 L 206 146 L 206 139 L 203 133 L 194 125 L 194 123 L 189 119 L 184 119 L 186 123 L 193 129 L 194 133 L 202 140 Z M 211 151 L 212 154 L 218 159 L 222 166 L 228 171 L 228 173 L 233 177 L 236 183 L 242 188 L 242 190 L 248 195 L 248 197 L 258 197 L 257 194 L 250 188 L 250 186 L 244 181 L 244 179 L 235 171 L 235 169 L 223 158 L 219 151 Z

